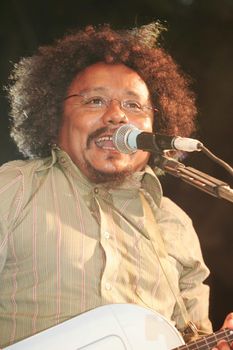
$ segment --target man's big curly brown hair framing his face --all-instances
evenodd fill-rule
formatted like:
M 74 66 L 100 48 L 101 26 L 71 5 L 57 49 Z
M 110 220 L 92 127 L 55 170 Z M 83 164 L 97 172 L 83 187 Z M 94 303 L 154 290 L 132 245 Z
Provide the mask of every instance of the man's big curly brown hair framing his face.
M 78 72 L 96 62 L 122 63 L 146 82 L 158 108 L 154 130 L 190 136 L 195 129 L 196 107 L 187 77 L 157 43 L 158 23 L 132 30 L 109 25 L 88 26 L 39 47 L 23 58 L 10 76 L 11 136 L 27 157 L 45 157 L 57 142 L 63 99 Z

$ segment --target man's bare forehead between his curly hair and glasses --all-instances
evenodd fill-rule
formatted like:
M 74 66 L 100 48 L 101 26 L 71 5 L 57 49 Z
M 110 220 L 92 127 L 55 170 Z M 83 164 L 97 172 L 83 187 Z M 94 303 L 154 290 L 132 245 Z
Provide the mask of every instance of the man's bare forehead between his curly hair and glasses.
M 128 94 L 149 99 L 144 80 L 123 64 L 96 63 L 79 72 L 70 84 L 68 93 L 102 92 Z

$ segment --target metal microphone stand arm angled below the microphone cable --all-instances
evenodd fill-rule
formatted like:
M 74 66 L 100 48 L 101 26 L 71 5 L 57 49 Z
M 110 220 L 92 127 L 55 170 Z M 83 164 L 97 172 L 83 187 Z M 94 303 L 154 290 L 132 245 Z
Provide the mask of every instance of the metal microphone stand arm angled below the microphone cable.
M 156 165 L 165 172 L 199 188 L 201 191 L 233 203 L 233 189 L 225 182 L 165 156 L 160 156 Z

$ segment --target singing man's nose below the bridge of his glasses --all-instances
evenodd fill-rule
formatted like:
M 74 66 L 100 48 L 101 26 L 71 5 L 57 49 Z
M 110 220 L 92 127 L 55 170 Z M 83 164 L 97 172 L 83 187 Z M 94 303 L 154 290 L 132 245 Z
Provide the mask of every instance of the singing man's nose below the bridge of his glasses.
M 129 122 L 127 115 L 121 109 L 120 103 L 117 100 L 110 102 L 102 118 L 105 125 L 118 125 Z

